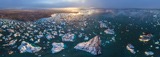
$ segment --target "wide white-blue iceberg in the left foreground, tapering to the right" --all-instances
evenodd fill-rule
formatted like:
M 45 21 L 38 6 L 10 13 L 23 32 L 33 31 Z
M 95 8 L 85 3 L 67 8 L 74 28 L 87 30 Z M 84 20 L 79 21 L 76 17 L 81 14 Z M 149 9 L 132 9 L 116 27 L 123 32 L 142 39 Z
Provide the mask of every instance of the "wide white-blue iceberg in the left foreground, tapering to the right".
M 22 43 L 18 47 L 18 49 L 20 50 L 20 53 L 24 53 L 24 52 L 35 53 L 35 52 L 40 51 L 42 48 L 41 47 L 34 47 L 31 44 L 29 44 L 28 42 L 22 41 Z

